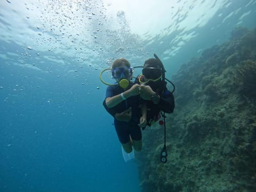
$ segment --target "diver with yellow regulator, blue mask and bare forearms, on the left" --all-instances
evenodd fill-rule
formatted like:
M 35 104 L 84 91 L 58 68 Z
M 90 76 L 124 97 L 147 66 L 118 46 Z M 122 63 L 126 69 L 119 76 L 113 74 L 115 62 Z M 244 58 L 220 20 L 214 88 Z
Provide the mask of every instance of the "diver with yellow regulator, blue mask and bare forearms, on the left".
M 132 83 L 133 69 L 126 59 L 117 59 L 111 66 L 116 84 L 109 85 L 103 106 L 114 117 L 114 125 L 125 161 L 134 158 L 133 148 L 142 148 L 140 127 L 146 126 L 146 105 L 140 105 L 140 85 Z M 138 113 L 138 107 L 141 113 Z M 140 114 L 142 114 L 140 116 Z

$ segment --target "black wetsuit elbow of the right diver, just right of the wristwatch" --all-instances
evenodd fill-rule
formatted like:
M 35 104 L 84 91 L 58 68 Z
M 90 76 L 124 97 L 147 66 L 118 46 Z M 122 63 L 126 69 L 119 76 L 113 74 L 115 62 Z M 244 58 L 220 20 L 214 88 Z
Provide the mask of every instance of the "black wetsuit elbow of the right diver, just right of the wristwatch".
M 169 90 L 164 91 L 159 104 L 164 113 L 172 113 L 175 107 L 173 94 Z

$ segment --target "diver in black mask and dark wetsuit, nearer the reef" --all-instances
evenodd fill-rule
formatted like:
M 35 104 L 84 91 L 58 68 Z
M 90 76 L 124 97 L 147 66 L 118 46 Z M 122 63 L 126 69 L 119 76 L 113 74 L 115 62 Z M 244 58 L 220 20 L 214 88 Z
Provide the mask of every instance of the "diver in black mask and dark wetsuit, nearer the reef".
M 151 58 L 145 61 L 142 74 L 135 81 L 141 85 L 140 97 L 147 103 L 148 126 L 153 125 L 161 117 L 161 111 L 172 113 L 175 107 L 172 94 L 174 90 L 167 90 L 164 73 L 162 62 Z

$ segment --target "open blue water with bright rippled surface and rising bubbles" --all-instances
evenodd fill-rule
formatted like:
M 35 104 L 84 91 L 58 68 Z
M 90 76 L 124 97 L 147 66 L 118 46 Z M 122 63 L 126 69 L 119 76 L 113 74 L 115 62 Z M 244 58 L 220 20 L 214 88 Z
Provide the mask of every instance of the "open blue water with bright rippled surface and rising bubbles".
M 100 71 L 156 53 L 171 79 L 236 26 L 256 24 L 253 0 L 142 1 L 159 21 L 146 18 L 143 31 L 130 18 L 136 2 L 0 2 L 0 191 L 140 191 L 102 106 Z

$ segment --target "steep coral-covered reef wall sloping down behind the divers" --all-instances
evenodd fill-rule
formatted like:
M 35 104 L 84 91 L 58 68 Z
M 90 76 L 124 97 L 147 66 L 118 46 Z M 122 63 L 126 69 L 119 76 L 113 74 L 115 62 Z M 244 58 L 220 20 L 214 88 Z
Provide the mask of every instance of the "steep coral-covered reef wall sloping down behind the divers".
M 163 127 L 143 132 L 137 155 L 142 191 L 256 191 L 256 29 L 205 50 L 172 78 L 168 161 Z

